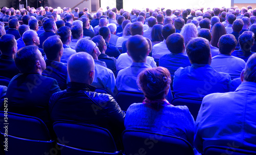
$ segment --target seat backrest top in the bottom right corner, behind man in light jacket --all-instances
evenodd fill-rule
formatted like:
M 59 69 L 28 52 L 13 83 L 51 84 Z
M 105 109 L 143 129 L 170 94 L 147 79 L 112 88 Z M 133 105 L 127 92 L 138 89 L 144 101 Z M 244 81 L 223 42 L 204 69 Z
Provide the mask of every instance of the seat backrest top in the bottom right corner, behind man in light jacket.
M 204 155 L 245 155 L 245 154 L 256 154 L 256 151 L 244 150 L 239 148 L 224 147 L 224 146 L 207 146 L 204 149 Z

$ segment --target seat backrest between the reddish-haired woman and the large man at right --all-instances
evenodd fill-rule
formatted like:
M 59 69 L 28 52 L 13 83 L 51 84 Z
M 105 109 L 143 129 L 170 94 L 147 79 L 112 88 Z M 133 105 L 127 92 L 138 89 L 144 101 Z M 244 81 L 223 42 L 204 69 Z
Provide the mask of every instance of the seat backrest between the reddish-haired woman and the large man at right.
M 199 109 L 202 104 L 202 100 L 200 99 L 193 99 L 193 98 L 182 98 L 177 97 L 172 100 L 173 105 L 186 105 L 189 109 L 189 112 L 194 117 L 194 120 L 197 119 L 197 115 L 199 112 Z

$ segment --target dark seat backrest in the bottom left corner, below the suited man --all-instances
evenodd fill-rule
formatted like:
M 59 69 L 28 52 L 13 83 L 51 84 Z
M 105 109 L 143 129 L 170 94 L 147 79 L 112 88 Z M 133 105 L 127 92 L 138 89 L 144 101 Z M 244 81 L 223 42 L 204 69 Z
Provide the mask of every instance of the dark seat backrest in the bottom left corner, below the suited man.
M 50 141 L 51 136 L 42 120 L 32 116 L 0 111 L 0 127 L 5 126 L 4 118 L 8 117 L 8 135 L 31 140 Z M 2 130 L 1 130 L 2 132 Z

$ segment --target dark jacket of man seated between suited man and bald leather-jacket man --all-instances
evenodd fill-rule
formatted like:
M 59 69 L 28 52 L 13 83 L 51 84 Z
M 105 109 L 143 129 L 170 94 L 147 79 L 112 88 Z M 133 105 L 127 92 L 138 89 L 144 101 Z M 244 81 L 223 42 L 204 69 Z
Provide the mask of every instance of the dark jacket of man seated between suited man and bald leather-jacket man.
M 57 80 L 62 91 L 67 89 L 67 74 L 68 71 L 65 64 L 46 59 L 46 70 L 42 72 L 42 75 Z

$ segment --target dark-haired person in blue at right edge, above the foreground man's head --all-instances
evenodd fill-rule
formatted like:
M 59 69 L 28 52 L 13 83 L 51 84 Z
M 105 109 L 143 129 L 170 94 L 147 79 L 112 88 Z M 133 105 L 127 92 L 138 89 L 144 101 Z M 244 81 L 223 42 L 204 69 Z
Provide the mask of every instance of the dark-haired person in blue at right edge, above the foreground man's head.
M 243 59 L 247 62 L 248 58 L 254 53 L 251 52 L 251 47 L 254 43 L 254 35 L 251 31 L 245 31 L 238 38 L 240 49 L 234 51 L 231 55 Z

